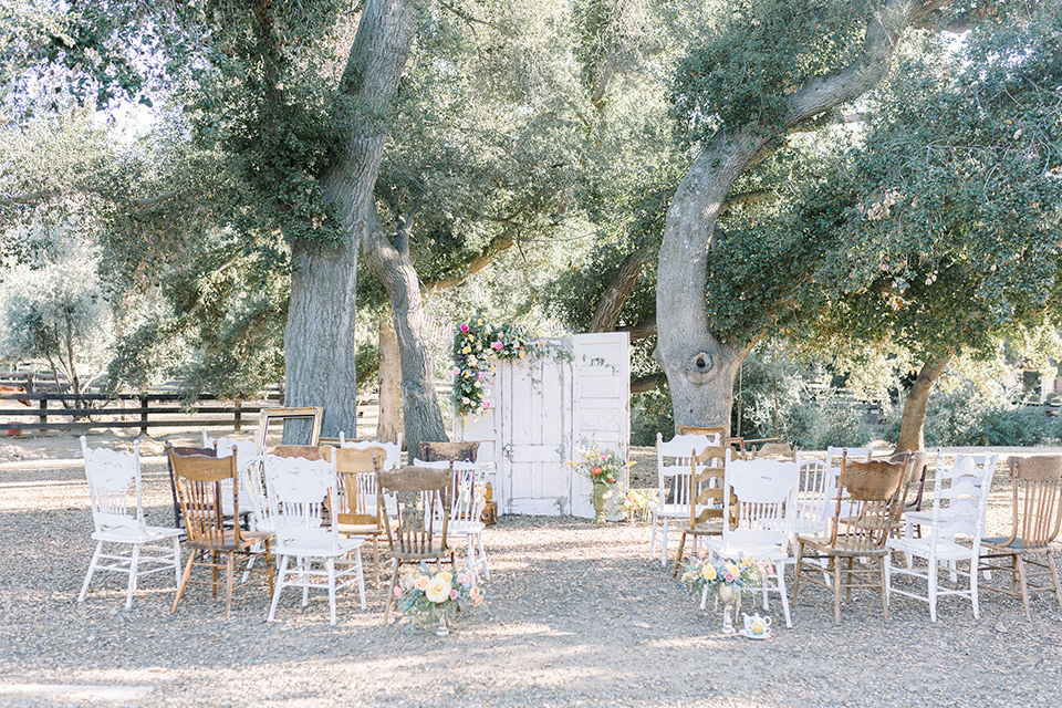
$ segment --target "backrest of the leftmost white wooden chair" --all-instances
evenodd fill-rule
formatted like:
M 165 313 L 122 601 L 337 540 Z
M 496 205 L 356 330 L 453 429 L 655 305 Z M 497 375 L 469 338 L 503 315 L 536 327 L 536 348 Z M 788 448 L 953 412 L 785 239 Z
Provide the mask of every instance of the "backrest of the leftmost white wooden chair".
M 104 447 L 91 449 L 82 436 L 81 454 L 85 459 L 92 522 L 96 532 L 113 529 L 143 530 L 145 523 L 139 441 L 133 441 L 133 452 L 119 452 Z

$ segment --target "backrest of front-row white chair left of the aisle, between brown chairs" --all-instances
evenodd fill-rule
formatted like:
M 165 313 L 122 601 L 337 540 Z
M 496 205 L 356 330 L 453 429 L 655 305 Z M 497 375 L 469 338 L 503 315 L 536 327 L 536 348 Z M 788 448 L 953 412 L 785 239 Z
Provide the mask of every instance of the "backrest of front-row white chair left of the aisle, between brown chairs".
M 334 523 L 324 525 L 324 504 L 335 509 L 335 465 L 327 460 L 302 457 L 266 457 L 266 486 L 273 518 L 277 553 L 289 549 L 305 552 L 313 546 L 322 552 L 339 549 L 339 531 Z

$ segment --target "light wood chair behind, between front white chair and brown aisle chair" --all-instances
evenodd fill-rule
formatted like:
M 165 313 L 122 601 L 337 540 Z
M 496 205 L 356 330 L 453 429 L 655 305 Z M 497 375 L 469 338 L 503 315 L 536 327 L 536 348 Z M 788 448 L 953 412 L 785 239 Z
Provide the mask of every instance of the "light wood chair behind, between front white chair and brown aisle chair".
M 373 542 L 374 587 L 379 586 L 379 538 L 386 533 L 384 508 L 376 493 L 376 472 L 384 469 L 387 450 L 368 447 L 362 450 L 337 448 L 335 473 L 339 478 L 336 529 L 342 535 Z

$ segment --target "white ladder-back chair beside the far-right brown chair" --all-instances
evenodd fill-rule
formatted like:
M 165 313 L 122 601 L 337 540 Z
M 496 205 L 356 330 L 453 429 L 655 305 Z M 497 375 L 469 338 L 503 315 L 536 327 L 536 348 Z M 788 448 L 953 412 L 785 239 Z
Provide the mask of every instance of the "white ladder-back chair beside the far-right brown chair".
M 993 456 L 995 457 L 995 456 Z M 906 575 L 926 581 L 926 594 L 900 590 L 889 583 L 889 594 L 914 597 L 929 603 L 929 621 L 937 621 L 937 598 L 943 595 L 956 595 L 970 601 L 974 617 L 978 615 L 977 566 L 981 552 L 981 539 L 985 535 L 985 521 L 988 512 L 988 494 L 992 487 L 996 466 L 978 466 L 970 456 L 960 456 L 955 467 L 941 469 L 940 454 L 937 452 L 937 472 L 933 483 L 933 509 L 928 519 L 920 521 L 922 538 L 914 538 L 912 521 L 907 521 L 907 535 L 903 539 L 889 539 L 889 551 L 900 552 L 907 559 L 907 566 L 889 564 L 891 576 Z M 968 537 L 966 543 L 957 543 L 956 537 Z M 925 559 L 926 569 L 915 569 L 913 558 Z M 956 563 L 969 563 L 968 572 L 956 568 Z M 952 582 L 958 575 L 969 580 L 969 587 L 941 589 L 938 584 L 939 565 L 947 563 Z

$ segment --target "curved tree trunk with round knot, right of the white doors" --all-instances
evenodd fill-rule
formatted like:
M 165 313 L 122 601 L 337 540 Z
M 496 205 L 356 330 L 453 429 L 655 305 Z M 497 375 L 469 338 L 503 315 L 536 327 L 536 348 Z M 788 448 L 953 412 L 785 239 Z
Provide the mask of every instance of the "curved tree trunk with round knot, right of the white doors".
M 899 34 L 946 0 L 889 0 L 867 23 L 861 56 L 833 74 L 809 79 L 787 96 L 789 128 L 852 101 L 881 82 Z M 774 134 L 745 125 L 718 132 L 694 160 L 667 210 L 656 291 L 657 347 L 667 375 L 676 425 L 730 424 L 733 377 L 759 332 L 745 343 L 721 342 L 711 333 L 705 300 L 708 253 L 716 219 L 738 177 L 769 154 Z

